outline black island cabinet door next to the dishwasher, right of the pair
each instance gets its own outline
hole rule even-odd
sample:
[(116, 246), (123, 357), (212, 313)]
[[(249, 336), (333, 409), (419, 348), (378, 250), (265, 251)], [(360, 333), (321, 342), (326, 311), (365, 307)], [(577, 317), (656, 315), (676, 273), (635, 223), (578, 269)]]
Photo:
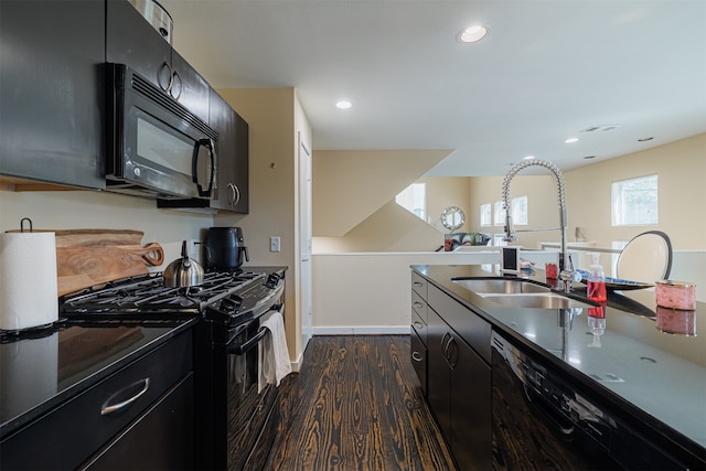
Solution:
[(462, 470), (492, 467), (491, 368), (453, 334), (451, 373), (451, 451)]

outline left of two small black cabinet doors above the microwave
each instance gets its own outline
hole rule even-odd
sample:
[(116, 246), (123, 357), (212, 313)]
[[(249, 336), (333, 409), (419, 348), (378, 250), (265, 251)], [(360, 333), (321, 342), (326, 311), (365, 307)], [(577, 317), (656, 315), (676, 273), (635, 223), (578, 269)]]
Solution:
[(165, 90), (171, 81), (171, 45), (127, 0), (107, 0), (106, 13), (106, 61), (129, 65)]

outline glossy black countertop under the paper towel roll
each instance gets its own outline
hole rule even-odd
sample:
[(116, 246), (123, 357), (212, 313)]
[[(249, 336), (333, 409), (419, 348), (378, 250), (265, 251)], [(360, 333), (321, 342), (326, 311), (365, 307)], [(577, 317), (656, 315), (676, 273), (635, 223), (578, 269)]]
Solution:
[(0, 340), (0, 439), (191, 329), (194, 319), (126, 323), (61, 322)]

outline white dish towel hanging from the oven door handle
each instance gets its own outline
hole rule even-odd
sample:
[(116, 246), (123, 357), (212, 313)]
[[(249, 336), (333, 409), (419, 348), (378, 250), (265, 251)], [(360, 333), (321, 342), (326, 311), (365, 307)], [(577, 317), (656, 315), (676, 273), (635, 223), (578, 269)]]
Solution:
[(270, 333), (269, 335), (265, 335), (258, 346), (260, 365), (257, 379), (258, 393), (263, 390), (267, 384), (279, 386), (282, 378), (291, 373), (282, 313), (279, 311), (274, 312), (260, 324), (260, 328), (268, 329)]

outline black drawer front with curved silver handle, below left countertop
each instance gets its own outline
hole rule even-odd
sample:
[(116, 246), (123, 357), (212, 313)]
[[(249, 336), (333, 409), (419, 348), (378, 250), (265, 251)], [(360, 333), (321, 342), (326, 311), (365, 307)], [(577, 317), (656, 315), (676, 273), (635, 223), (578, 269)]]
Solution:
[[(188, 331), (8, 438), (2, 442), (0, 468), (77, 468), (191, 368)], [(105, 411), (106, 406), (133, 398), (122, 408)]]

